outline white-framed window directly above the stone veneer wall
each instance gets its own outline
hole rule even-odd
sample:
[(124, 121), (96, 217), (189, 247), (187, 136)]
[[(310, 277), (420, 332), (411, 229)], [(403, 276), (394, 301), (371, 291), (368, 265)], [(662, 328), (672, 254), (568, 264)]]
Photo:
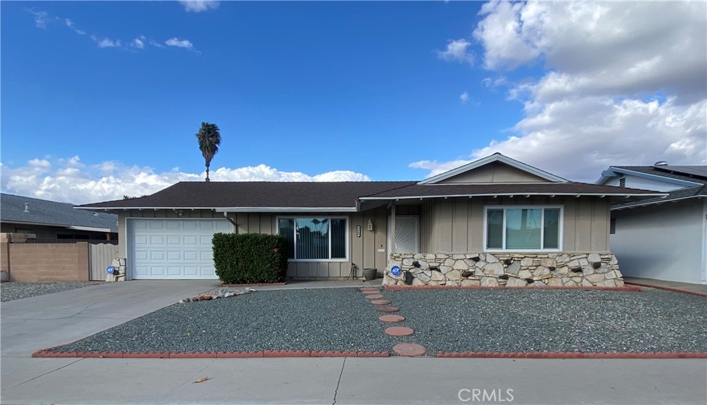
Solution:
[(562, 206), (484, 207), (487, 251), (562, 250)]

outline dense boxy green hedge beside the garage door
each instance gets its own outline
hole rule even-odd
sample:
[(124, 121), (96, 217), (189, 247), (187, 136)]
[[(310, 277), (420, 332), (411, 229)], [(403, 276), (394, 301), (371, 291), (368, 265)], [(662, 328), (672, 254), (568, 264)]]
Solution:
[(214, 266), (225, 284), (279, 283), (287, 273), (287, 240), (262, 233), (216, 233)]

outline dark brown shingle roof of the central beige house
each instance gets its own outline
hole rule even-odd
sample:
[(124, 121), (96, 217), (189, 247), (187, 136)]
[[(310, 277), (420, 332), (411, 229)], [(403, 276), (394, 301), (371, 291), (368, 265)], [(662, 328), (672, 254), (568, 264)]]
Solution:
[(80, 206), (87, 209), (122, 208), (346, 208), (359, 199), (396, 199), (414, 196), (470, 196), (493, 194), (661, 194), (625, 187), (578, 182), (524, 184), (416, 184), (416, 182), (179, 182), (137, 199)]

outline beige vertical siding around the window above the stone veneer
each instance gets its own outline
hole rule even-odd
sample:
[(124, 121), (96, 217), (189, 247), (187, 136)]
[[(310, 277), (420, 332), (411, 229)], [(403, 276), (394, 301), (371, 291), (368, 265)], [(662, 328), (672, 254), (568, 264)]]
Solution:
[(426, 201), (421, 213), (421, 250), (484, 251), (484, 206), (563, 206), (563, 252), (609, 252), (609, 203), (592, 196), (509, 196)]

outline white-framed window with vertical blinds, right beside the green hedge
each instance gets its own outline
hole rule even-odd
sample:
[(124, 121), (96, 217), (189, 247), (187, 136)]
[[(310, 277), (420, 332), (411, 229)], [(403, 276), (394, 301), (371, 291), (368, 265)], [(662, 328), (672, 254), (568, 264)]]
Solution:
[(291, 262), (349, 260), (349, 220), (345, 216), (280, 216), (277, 233), (287, 238)]

